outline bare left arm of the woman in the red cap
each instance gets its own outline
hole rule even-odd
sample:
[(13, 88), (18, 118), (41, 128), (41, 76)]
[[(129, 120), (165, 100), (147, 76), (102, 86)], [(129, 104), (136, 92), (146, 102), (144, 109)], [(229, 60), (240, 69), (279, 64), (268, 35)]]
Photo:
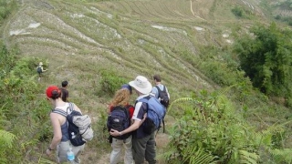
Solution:
[[(62, 131), (61, 131), (61, 124), (58, 120), (56, 113), (50, 114), (51, 123), (54, 128), (54, 137), (51, 141), (51, 144), (48, 146), (49, 149), (57, 149), (57, 144), (61, 141), (62, 138)], [(50, 153), (47, 153), (49, 155)]]

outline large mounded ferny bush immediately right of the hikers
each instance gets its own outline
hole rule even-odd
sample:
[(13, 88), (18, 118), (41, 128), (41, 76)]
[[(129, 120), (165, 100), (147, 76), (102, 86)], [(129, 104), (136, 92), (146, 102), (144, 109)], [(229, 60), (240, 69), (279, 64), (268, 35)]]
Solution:
[[(185, 103), (188, 102), (188, 103)], [(248, 163), (259, 160), (255, 129), (235, 117), (233, 104), (222, 93), (183, 97), (172, 102), (183, 117), (171, 130), (165, 158), (170, 163)]]

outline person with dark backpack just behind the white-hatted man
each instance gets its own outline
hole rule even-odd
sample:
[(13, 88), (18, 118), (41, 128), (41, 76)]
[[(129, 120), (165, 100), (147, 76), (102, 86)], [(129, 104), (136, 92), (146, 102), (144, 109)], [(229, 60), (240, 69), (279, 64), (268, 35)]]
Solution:
[(161, 101), (165, 108), (168, 108), (171, 97), (167, 87), (162, 85), (162, 77), (159, 75), (154, 75), (153, 80), (155, 86), (152, 88), (151, 93)]

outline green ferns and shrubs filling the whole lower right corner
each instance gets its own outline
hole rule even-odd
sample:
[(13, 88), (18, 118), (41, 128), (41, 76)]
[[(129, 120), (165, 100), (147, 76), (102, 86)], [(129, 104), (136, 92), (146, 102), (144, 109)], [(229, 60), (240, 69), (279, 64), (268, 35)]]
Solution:
[[(285, 125), (291, 121), (256, 129), (224, 96), (228, 89), (214, 93), (202, 91), (199, 95), (172, 102), (169, 112), (182, 118), (177, 119), (172, 128), (169, 149), (164, 152), (168, 163), (291, 162), (286, 158), (286, 153), (291, 151), (283, 149), (282, 145), (287, 133)], [(176, 108), (182, 112), (177, 113)], [(264, 154), (277, 157), (266, 159)]]

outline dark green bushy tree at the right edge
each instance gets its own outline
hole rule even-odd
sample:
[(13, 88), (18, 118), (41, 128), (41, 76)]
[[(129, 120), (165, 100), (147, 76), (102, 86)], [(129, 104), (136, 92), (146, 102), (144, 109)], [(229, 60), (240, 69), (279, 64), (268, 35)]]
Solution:
[(292, 75), (292, 33), (273, 23), (268, 27), (254, 26), (253, 35), (239, 38), (235, 53), (240, 66), (254, 87), (267, 95), (290, 96)]

